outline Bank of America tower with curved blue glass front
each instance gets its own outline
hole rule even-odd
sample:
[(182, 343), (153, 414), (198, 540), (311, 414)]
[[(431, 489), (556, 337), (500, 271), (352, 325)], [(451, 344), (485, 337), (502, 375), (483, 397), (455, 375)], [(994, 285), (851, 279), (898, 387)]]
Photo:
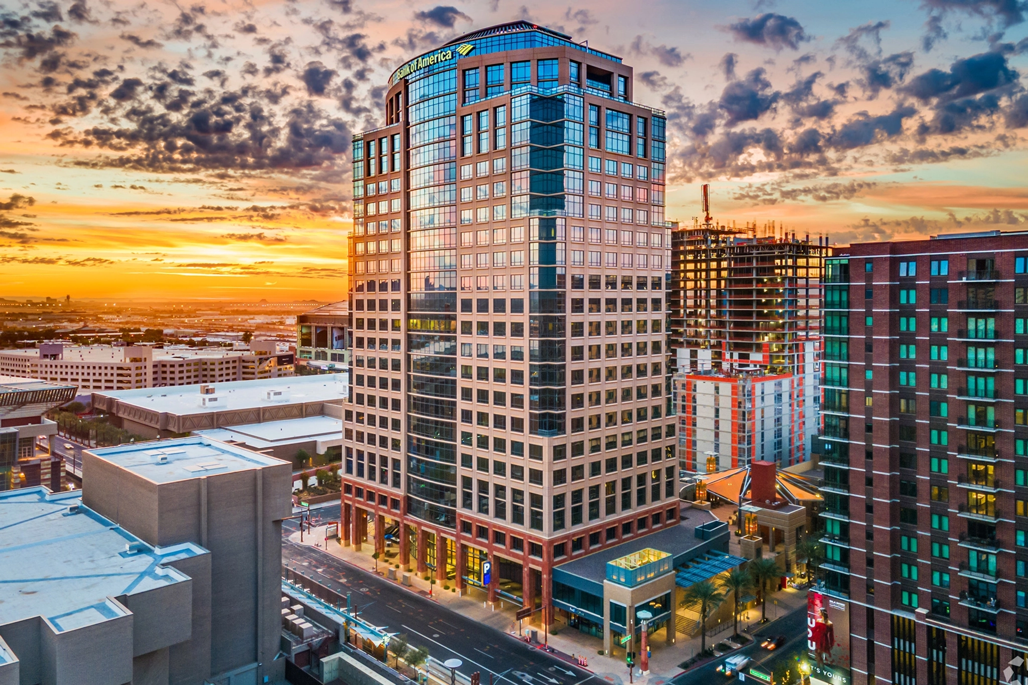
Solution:
[(344, 539), (370, 515), (376, 549), (458, 586), (490, 562), (547, 618), (555, 560), (677, 520), (666, 119), (633, 85), (515, 22), (404, 64), (354, 141)]

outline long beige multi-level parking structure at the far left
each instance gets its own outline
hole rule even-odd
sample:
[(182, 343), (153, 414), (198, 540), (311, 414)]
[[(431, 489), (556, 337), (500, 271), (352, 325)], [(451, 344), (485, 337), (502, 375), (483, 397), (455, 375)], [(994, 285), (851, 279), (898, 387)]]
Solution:
[(293, 353), (264, 340), (252, 341), (244, 349), (49, 342), (0, 351), (0, 374), (73, 383), (80, 394), (88, 394), (292, 376)]

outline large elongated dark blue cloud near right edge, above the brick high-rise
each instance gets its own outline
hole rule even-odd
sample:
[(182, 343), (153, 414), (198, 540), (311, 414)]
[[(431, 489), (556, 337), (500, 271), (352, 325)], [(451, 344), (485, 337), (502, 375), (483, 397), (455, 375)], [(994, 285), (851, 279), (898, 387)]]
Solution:
[(941, 103), (969, 98), (1017, 83), (1020, 74), (1012, 69), (1006, 55), (999, 52), (982, 52), (957, 60), (948, 72), (929, 69), (911, 79), (904, 92), (921, 102), (938, 100)]

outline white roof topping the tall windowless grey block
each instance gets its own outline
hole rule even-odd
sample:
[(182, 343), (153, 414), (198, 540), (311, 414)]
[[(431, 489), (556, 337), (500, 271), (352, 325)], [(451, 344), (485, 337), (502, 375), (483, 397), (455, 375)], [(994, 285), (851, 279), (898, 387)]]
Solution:
[(89, 453), (153, 483), (188, 481), (286, 463), (198, 435), (119, 445)]

